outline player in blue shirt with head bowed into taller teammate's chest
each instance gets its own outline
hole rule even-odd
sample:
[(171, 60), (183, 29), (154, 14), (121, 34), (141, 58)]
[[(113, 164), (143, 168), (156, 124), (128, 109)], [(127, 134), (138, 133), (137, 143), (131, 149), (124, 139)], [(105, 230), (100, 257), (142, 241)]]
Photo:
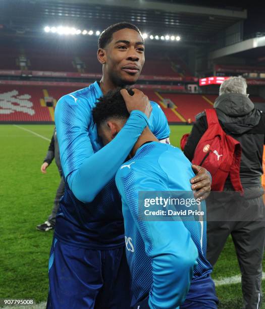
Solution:
[[(123, 99), (130, 94), (126, 89), (121, 91), (123, 96), (117, 89), (99, 98), (92, 110), (103, 144), (118, 137), (130, 116)], [(215, 285), (210, 278), (212, 268), (205, 258), (206, 221), (195, 221), (193, 216), (186, 221), (141, 217), (140, 194), (145, 191), (193, 196), (191, 163), (180, 149), (160, 143), (148, 127), (132, 147), (129, 158), (116, 174), (116, 185), (122, 197), (132, 307), (217, 308)], [(204, 201), (199, 200), (199, 205), (205, 209)]]

